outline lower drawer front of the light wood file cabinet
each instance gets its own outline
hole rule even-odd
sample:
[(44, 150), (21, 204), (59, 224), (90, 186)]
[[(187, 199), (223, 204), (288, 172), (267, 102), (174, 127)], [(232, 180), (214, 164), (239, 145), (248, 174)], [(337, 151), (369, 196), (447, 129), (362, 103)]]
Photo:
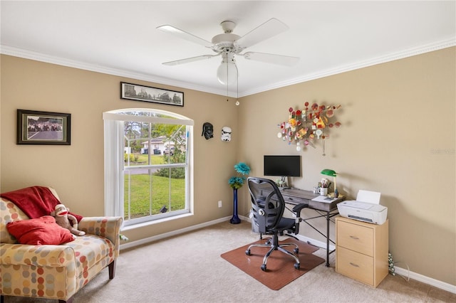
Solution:
[(340, 246), (336, 248), (336, 255), (336, 272), (373, 285), (373, 257)]

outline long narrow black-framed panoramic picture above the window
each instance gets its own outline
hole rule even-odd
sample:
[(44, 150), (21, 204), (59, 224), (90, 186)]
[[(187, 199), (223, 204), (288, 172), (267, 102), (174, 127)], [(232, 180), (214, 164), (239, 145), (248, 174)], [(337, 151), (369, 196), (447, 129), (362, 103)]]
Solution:
[(120, 83), (120, 98), (144, 102), (162, 103), (166, 105), (184, 106), (184, 93), (162, 88)]

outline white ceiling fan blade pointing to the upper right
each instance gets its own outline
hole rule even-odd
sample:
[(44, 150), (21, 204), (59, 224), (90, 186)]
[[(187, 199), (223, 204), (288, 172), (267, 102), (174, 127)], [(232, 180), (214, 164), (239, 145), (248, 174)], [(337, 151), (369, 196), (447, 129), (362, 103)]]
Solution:
[(249, 33), (246, 33), (234, 43), (243, 49), (248, 48), (249, 46), (253, 46), (254, 44), (276, 36), (277, 34), (286, 31), (288, 28), (289, 27), (282, 21), (271, 18), (257, 28), (254, 28), (252, 31), (249, 31)]

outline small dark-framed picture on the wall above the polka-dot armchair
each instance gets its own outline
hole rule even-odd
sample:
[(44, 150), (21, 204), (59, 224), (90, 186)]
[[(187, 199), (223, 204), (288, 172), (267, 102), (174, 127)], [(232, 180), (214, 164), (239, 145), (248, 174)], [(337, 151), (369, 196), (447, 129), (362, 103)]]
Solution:
[(70, 145), (71, 114), (17, 110), (16, 144)]

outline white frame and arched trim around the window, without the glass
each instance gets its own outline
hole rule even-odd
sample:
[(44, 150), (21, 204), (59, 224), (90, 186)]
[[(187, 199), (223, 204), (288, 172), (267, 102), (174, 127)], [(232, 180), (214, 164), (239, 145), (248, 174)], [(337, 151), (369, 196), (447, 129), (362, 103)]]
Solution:
[[(127, 115), (125, 112), (150, 112), (173, 118)], [(138, 225), (156, 222), (160, 218), (179, 218), (193, 213), (193, 125), (194, 122), (188, 117), (150, 108), (126, 108), (103, 112), (104, 122), (104, 145), (105, 145), (105, 216), (120, 216), (124, 214), (124, 122), (145, 122), (155, 124), (179, 124), (187, 126), (187, 175), (185, 176), (185, 211), (177, 211), (172, 215), (145, 216), (141, 220), (130, 220), (124, 225)]]

